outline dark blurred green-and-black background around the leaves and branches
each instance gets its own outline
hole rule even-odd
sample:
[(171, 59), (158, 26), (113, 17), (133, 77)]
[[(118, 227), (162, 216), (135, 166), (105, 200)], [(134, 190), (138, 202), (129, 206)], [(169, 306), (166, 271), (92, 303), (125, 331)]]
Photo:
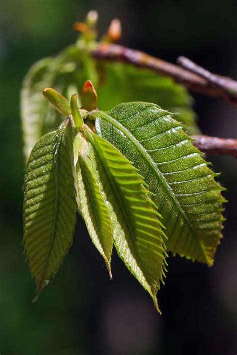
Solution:
[[(32, 304), (22, 238), (19, 91), (29, 66), (73, 43), (90, 9), (99, 30), (121, 19), (120, 43), (169, 61), (185, 55), (237, 79), (236, 0), (0, 0), (0, 355), (235, 355), (237, 160), (208, 156), (227, 187), (224, 238), (208, 268), (168, 258), (162, 316), (113, 253), (113, 280), (78, 218), (73, 246)], [(118, 88), (119, 89), (119, 88)], [(194, 95), (202, 131), (237, 136), (237, 109)]]

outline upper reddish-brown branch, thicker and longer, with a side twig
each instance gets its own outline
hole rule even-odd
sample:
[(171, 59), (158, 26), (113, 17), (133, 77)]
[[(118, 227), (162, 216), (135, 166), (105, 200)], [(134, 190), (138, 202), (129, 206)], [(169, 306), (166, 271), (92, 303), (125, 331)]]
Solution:
[[(222, 97), (231, 104), (237, 105), (237, 82), (219, 75), (209, 73), (207, 70), (196, 66), (188, 59), (179, 57), (178, 65), (171, 64), (144, 52), (123, 47), (118, 44), (99, 43), (91, 50), (91, 54), (97, 59), (127, 62), (142, 68), (154, 70), (160, 74), (169, 76), (174, 81), (183, 84), (190, 90), (202, 94)], [(192, 63), (192, 65), (190, 65)], [(198, 68), (198, 70), (197, 70)]]

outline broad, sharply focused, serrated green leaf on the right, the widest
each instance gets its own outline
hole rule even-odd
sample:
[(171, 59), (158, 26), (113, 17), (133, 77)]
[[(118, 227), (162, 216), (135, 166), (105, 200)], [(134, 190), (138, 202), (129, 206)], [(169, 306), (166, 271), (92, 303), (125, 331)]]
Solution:
[(95, 131), (139, 170), (163, 217), (173, 254), (212, 265), (221, 237), (223, 190), (179, 122), (144, 102), (93, 111)]

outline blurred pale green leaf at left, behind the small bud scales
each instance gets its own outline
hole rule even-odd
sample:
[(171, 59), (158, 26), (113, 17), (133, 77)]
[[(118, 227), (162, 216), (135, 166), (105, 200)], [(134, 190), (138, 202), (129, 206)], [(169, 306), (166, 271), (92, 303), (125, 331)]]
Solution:
[[(76, 45), (70, 45), (57, 56), (43, 58), (30, 67), (20, 94), (26, 162), (36, 141), (43, 134), (55, 130), (62, 121), (59, 112), (43, 97), (43, 89), (54, 87), (69, 99), (72, 93), (80, 90), (87, 79), (95, 84), (97, 82), (95, 60)], [(72, 86), (76, 90), (70, 90)]]

